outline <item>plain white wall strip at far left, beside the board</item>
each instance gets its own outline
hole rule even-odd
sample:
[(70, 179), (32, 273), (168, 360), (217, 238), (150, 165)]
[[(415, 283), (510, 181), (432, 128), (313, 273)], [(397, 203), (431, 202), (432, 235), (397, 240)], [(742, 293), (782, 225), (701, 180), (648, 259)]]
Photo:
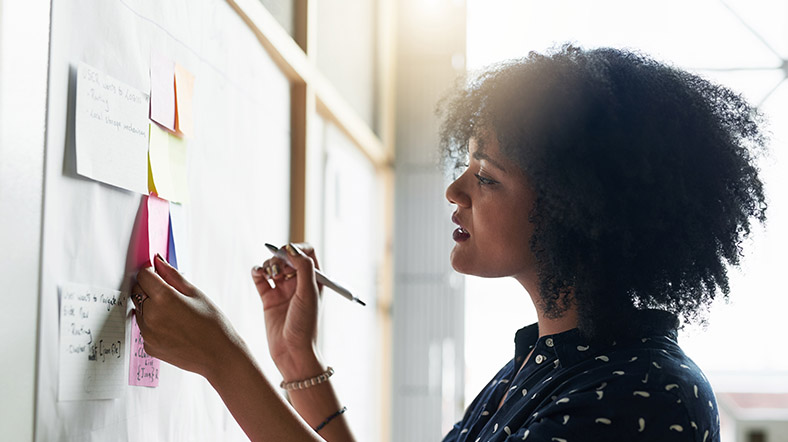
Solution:
[(0, 428), (33, 438), (49, 1), (0, 0)]

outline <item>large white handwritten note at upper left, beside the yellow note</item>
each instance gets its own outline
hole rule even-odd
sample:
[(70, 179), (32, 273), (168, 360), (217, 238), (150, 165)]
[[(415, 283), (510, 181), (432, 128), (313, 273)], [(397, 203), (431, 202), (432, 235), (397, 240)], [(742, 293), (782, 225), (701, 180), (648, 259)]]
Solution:
[(77, 68), (77, 173), (148, 193), (148, 95), (80, 63)]

